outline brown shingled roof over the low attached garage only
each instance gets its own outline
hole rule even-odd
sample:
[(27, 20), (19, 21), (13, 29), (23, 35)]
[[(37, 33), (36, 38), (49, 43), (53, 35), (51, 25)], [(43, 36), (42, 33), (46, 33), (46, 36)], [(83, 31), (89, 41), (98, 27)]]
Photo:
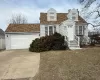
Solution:
[(9, 24), (5, 32), (37, 32), (40, 24)]

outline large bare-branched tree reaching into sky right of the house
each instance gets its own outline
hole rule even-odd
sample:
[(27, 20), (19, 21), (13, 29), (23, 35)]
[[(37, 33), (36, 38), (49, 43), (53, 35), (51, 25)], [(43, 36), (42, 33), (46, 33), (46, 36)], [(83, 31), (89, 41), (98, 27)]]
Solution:
[[(81, 15), (93, 27), (100, 26), (100, 2), (99, 0), (78, 0), (82, 5)], [(91, 21), (89, 21), (91, 20)]]

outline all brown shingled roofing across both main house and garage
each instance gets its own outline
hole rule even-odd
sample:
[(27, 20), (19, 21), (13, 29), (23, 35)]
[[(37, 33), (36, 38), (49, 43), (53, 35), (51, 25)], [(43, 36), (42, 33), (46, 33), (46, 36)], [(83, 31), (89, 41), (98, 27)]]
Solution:
[[(40, 24), (60, 24), (67, 20), (68, 13), (57, 13), (57, 21), (47, 21), (47, 13), (40, 13)], [(77, 23), (87, 23), (81, 16), (78, 16)], [(5, 32), (37, 32), (40, 31), (40, 24), (9, 24)]]

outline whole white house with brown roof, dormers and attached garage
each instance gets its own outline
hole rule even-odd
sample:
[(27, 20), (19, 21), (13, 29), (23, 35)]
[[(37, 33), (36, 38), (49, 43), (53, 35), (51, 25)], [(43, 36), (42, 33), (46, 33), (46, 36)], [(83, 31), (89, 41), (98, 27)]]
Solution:
[(38, 24), (10, 24), (6, 29), (6, 49), (29, 48), (32, 40), (55, 32), (65, 37), (70, 49), (80, 49), (80, 41), (88, 43), (88, 24), (79, 16), (78, 9), (58, 13), (51, 8), (40, 13)]

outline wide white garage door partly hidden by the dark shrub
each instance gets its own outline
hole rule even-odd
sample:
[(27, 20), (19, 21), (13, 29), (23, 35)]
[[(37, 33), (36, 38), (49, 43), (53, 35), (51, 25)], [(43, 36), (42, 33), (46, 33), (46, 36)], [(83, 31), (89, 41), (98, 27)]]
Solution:
[(11, 35), (11, 49), (27, 49), (32, 40), (39, 37), (39, 34), (32, 35)]

